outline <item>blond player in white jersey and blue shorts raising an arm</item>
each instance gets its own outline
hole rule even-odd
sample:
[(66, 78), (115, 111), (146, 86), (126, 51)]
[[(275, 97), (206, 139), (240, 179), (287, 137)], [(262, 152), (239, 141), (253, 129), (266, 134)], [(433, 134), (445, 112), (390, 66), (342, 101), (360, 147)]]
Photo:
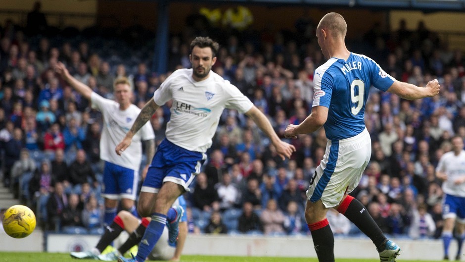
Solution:
[[(116, 216), (118, 201), (123, 210), (138, 216), (134, 202), (139, 183), (139, 166), (142, 159), (142, 144), (145, 143), (145, 155), (151, 159), (155, 154), (155, 137), (153, 128), (145, 124), (134, 135), (133, 144), (128, 147), (123, 157), (113, 150), (118, 142), (126, 136), (133, 125), (140, 108), (131, 103), (133, 90), (127, 78), (118, 78), (114, 83), (115, 101), (101, 97), (89, 86), (79, 82), (70, 75), (65, 65), (58, 62), (56, 71), (83, 97), (90, 100), (92, 107), (103, 115), (103, 128), (100, 138), (100, 159), (105, 161), (103, 170), (103, 193), (105, 198), (104, 222), (109, 225)], [(144, 172), (148, 164), (144, 168)]]

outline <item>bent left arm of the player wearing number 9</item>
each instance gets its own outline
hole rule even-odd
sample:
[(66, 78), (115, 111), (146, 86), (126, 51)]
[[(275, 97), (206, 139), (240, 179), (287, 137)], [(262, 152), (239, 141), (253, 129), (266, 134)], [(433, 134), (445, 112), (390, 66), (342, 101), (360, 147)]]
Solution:
[(328, 118), (328, 108), (326, 106), (315, 106), (305, 120), (299, 125), (288, 125), (284, 130), (284, 137), (297, 138), (298, 134), (310, 134), (322, 127)]

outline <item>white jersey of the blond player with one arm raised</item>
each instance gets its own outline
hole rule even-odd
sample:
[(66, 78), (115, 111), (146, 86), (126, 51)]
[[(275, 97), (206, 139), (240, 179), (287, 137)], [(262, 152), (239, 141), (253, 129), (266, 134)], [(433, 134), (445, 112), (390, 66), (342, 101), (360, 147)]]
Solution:
[(142, 159), (142, 140), (154, 139), (155, 134), (150, 122), (145, 123), (134, 135), (131, 145), (121, 156), (116, 155), (115, 148), (131, 129), (139, 115), (140, 108), (130, 105), (122, 111), (119, 104), (99, 96), (93, 92), (91, 95), (92, 107), (101, 111), (103, 115), (103, 128), (100, 136), (100, 159), (126, 168), (139, 171)]

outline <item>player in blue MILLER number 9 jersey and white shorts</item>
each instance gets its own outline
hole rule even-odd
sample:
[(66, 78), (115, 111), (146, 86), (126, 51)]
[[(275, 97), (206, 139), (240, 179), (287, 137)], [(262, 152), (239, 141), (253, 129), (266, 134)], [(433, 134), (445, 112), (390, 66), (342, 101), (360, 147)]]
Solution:
[(324, 126), (326, 153), (310, 180), (305, 218), (320, 262), (334, 261), (334, 236), (326, 212), (334, 208), (370, 237), (382, 262), (396, 261), (400, 247), (388, 240), (365, 207), (347, 195), (360, 182), (372, 154), (364, 113), (370, 87), (407, 100), (439, 93), (437, 80), (425, 88), (395, 80), (365, 55), (347, 50), (347, 23), (338, 13), (328, 13), (317, 27), (318, 44), (328, 59), (314, 75), (311, 114), (299, 125), (287, 126), (286, 138), (312, 133)]

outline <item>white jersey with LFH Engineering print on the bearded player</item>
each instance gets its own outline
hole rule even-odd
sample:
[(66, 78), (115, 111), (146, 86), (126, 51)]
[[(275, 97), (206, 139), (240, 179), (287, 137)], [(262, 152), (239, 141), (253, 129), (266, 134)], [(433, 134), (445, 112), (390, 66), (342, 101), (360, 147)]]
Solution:
[(224, 108), (245, 113), (253, 104), (229, 81), (213, 71), (203, 81), (192, 78), (192, 69), (173, 72), (157, 89), (153, 100), (164, 105), (170, 99), (171, 119), (166, 138), (173, 144), (195, 152), (205, 152)]

